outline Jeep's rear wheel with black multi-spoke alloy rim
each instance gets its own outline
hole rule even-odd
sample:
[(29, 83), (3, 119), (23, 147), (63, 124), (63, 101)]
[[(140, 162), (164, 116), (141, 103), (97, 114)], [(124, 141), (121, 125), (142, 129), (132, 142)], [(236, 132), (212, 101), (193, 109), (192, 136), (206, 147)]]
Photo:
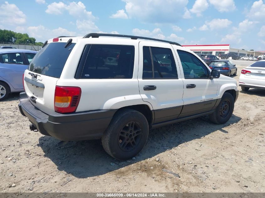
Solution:
[(146, 144), (149, 125), (146, 117), (133, 109), (117, 111), (102, 136), (104, 150), (117, 160), (131, 159)]

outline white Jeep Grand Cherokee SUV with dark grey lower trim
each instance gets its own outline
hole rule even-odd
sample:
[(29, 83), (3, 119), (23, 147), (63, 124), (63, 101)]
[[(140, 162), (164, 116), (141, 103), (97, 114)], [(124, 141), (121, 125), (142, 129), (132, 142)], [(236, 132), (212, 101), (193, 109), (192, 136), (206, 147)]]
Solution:
[(19, 110), (31, 130), (102, 139), (119, 160), (142, 150), (149, 129), (204, 115), (224, 124), (238, 97), (236, 80), (180, 44), (128, 35), (50, 39), (23, 78)]

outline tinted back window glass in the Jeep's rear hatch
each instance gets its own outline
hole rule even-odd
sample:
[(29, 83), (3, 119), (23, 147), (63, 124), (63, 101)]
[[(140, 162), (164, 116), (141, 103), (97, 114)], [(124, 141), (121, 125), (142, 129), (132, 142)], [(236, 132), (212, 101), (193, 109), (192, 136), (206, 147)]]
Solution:
[(60, 78), (66, 60), (75, 43), (65, 48), (66, 43), (48, 43), (34, 56), (29, 71), (55, 78)]

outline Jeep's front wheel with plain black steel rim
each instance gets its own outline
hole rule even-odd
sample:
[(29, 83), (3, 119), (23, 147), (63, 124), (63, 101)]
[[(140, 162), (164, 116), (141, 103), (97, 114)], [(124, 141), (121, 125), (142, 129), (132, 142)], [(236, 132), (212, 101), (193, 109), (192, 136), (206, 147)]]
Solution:
[(215, 112), (209, 115), (209, 119), (215, 124), (225, 124), (232, 116), (235, 100), (230, 93), (224, 93)]

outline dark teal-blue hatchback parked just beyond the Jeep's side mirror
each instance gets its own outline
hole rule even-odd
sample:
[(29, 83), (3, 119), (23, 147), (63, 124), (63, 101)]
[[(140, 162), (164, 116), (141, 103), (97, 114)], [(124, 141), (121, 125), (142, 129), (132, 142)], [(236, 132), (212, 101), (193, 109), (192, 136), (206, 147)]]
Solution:
[(220, 74), (231, 76), (236, 75), (237, 68), (235, 64), (232, 64), (229, 60), (214, 60), (209, 64), (210, 69), (220, 71)]

